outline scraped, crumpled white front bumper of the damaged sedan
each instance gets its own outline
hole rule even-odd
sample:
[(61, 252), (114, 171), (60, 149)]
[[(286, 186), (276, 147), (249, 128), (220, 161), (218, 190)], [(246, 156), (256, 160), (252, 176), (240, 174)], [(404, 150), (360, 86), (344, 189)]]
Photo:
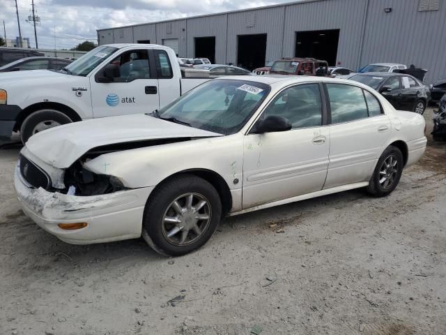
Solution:
[[(15, 170), (15, 191), (26, 216), (40, 228), (70, 244), (93, 244), (141, 236), (144, 207), (153, 187), (118, 191), (88, 197), (32, 188)], [(63, 230), (58, 223), (88, 225)]]

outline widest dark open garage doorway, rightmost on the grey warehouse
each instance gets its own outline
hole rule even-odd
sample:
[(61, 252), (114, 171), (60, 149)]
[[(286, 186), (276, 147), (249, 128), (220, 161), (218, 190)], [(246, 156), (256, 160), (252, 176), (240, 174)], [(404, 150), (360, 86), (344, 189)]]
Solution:
[(295, 57), (313, 57), (336, 66), (339, 29), (297, 31), (295, 33)]

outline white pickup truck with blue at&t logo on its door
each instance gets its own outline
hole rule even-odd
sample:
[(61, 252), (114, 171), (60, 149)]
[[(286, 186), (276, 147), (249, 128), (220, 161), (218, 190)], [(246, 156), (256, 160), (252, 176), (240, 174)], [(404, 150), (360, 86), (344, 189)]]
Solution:
[(162, 45), (101, 45), (60, 72), (0, 74), (0, 139), (22, 142), (47, 128), (98, 117), (152, 112), (209, 78), (183, 78)]

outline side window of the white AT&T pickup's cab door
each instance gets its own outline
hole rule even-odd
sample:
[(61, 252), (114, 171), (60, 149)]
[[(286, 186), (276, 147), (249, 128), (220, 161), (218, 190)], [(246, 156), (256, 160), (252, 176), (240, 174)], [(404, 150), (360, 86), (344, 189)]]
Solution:
[(109, 64), (119, 67), (119, 77), (114, 78), (115, 82), (132, 82), (150, 77), (147, 50), (123, 52)]

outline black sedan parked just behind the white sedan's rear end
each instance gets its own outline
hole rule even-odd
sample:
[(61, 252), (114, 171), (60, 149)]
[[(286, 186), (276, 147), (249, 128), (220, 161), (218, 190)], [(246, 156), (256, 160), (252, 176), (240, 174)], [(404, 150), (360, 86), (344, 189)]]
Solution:
[(411, 75), (401, 73), (357, 73), (349, 78), (376, 89), (397, 110), (423, 114), (431, 99), (429, 88)]

